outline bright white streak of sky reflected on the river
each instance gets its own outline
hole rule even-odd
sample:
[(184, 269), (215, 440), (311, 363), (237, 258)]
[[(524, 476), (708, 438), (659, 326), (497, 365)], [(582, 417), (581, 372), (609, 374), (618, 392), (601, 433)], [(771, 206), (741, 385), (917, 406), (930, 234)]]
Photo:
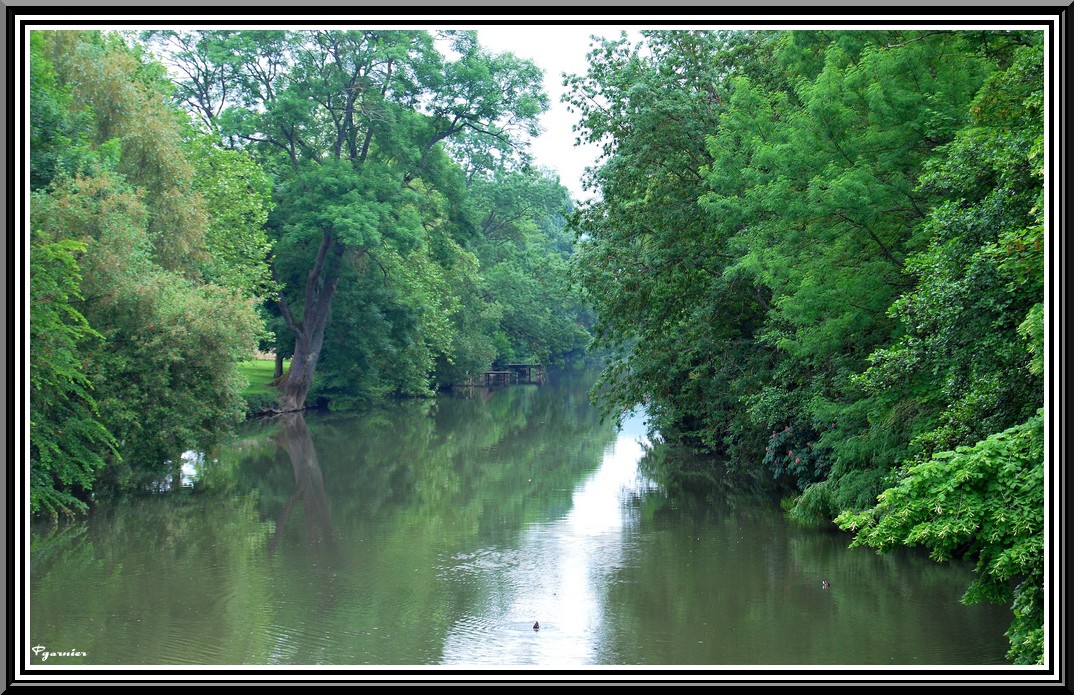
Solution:
[(606, 589), (633, 542), (637, 512), (627, 502), (655, 489), (638, 469), (647, 444), (641, 416), (626, 419), (600, 466), (575, 489), (564, 518), (526, 529), (514, 549), (476, 553), (480, 568), (470, 569), (482, 575), (490, 594), (484, 614), (458, 623), (446, 639), (442, 663), (596, 663), (606, 619), (614, 611), (604, 599)]

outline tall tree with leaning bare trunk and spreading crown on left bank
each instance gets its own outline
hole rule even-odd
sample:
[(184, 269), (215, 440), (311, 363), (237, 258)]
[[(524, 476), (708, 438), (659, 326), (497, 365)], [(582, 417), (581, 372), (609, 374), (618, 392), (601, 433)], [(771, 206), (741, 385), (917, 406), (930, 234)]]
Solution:
[(346, 269), (420, 240), (416, 199), (441, 143), (514, 150), (546, 107), (535, 66), (489, 55), (473, 33), (446, 39), (453, 60), (422, 31), (204, 32), (172, 56), (184, 98), (278, 182), (274, 273), (294, 335), (282, 410), (305, 406)]

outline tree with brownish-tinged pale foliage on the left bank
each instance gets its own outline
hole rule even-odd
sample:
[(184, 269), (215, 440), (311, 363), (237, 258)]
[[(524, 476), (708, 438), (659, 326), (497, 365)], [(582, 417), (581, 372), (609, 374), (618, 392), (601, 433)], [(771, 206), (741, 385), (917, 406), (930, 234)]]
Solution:
[[(92, 385), (96, 415), (115, 444), (99, 446), (97, 458), (81, 461), (64, 445), (68, 461), (55, 461), (53, 469), (82, 467), (86, 475), (76, 481), (82, 489), (100, 483), (93, 479), (100, 476), (126, 484), (242, 418), (237, 363), (252, 352), (260, 321), (249, 288), (207, 280), (242, 285), (240, 269), (256, 277), (262, 260), (228, 256), (223, 244), (209, 243), (209, 221), (220, 221), (226, 197), (211, 198), (217, 207), (206, 207), (193, 188), (185, 116), (160, 91), (166, 89), (163, 70), (113, 34), (39, 35), (31, 41), (32, 58), (47, 79), (31, 91), (31, 116), (35, 108), (52, 114), (38, 130), (42, 151), (70, 141), (85, 156), (31, 161), (31, 166), (71, 162), (45, 169), (43, 186), (31, 198), (30, 221), (33, 247), (68, 249), (76, 265), (62, 267), (69, 279), (78, 278), (77, 292), (49, 294), (66, 296), (70, 307), (34, 303), (31, 323), (47, 323), (50, 312), (72, 328), (81, 325), (78, 315), (88, 323), (68, 332), (85, 378), (76, 383), (87, 387), (85, 393)], [(82, 250), (75, 254), (76, 248)], [(214, 251), (220, 256), (216, 266), (209, 262)], [(60, 258), (31, 254), (31, 273), (44, 281), (50, 271), (39, 259), (61, 267)], [(231, 272), (222, 272), (224, 262)], [(68, 287), (55, 277), (58, 287)], [(62, 351), (54, 357), (46, 349), (50, 339), (39, 334), (31, 346), (32, 378), (40, 372), (47, 381), (49, 370), (69, 368)], [(54, 391), (63, 386), (53, 381)], [(54, 395), (33, 394), (39, 404), (31, 407), (40, 417), (31, 429), (39, 439), (60, 426), (61, 410), (48, 409)], [(91, 401), (83, 402), (92, 411)], [(64, 432), (75, 436), (73, 428)]]

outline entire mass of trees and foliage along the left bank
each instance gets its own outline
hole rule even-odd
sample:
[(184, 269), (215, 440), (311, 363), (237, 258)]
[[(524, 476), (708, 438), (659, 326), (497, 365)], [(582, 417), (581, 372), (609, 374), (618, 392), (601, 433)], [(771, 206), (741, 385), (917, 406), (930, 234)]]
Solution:
[(68, 391), (102, 428), (71, 441), (115, 437), (77, 476), (34, 449), (56, 483), (35, 490), (137, 484), (205, 446), (263, 405), (238, 364), (268, 335), (295, 341), (300, 407), (322, 345), (313, 394), (337, 408), (580, 351), (566, 192), (521, 147), (540, 72), (452, 35), (449, 59), (423, 31), (144, 34), (172, 84), (129, 34), (33, 34), (38, 258), (77, 285), (35, 320), (69, 325), (84, 375), (40, 353), (34, 441)]

